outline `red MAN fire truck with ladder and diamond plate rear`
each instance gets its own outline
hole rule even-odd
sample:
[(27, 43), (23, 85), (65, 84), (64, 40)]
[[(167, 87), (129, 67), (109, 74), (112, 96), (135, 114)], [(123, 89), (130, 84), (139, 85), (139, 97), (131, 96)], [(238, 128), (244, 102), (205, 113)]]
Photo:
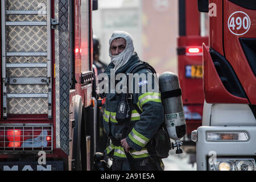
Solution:
[(0, 170), (92, 166), (94, 5), (97, 1), (1, 1)]

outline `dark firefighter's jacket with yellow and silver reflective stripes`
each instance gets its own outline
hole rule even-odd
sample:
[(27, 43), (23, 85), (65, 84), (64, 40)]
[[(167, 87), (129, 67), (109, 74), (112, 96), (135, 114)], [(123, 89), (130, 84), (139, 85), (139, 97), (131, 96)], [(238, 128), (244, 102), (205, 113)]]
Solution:
[[(139, 58), (135, 53), (129, 61), (119, 68), (114, 75), (118, 73), (129, 73), (129, 69), (134, 65), (139, 63)], [(108, 68), (106, 68), (105, 73), (110, 78), (110, 69), (114, 68), (114, 64), (110, 63)], [(112, 70), (113, 71), (113, 70)], [(148, 69), (141, 69), (138, 74), (141, 73), (151, 73)], [(152, 74), (151, 74), (151, 77)], [(146, 79), (146, 80), (144, 80)], [(117, 80), (117, 79), (115, 79)], [(135, 79), (134, 79), (135, 80)], [(154, 84), (154, 77), (151, 78), (152, 84)], [(134, 81), (134, 84), (139, 85), (139, 93), (133, 93), (133, 106), (129, 129), (129, 135), (126, 137), (126, 142), (131, 147), (130, 153), (135, 159), (148, 158), (148, 152), (146, 144), (149, 140), (154, 137), (155, 133), (158, 131), (160, 125), (164, 121), (163, 115), (163, 105), (161, 103), (160, 92), (148, 92), (150, 89), (142, 89), (143, 85), (150, 84), (150, 79), (139, 78), (139, 81)], [(157, 85), (158, 86), (158, 85)], [(134, 85), (135, 88), (135, 85)], [(153, 87), (154, 88), (154, 87)], [(115, 119), (117, 113), (117, 105), (121, 99), (121, 94), (118, 93), (107, 93), (106, 102), (104, 109), (104, 129), (108, 137), (114, 137), (115, 139), (121, 139), (122, 131), (125, 127), (125, 123), (118, 123)], [(141, 114), (136, 110), (135, 105), (141, 109)], [(114, 158), (126, 158), (124, 148), (121, 146), (114, 146), (110, 142), (109, 146), (106, 148), (105, 152), (109, 154), (114, 150)]]

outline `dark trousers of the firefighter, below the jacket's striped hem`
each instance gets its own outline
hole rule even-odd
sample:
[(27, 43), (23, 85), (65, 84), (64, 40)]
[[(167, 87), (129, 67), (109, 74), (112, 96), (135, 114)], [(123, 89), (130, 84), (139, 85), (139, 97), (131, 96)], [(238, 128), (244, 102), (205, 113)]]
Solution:
[[(135, 159), (134, 167), (136, 171), (159, 171), (158, 167), (151, 159)], [(131, 171), (128, 160), (113, 159), (112, 171)]]

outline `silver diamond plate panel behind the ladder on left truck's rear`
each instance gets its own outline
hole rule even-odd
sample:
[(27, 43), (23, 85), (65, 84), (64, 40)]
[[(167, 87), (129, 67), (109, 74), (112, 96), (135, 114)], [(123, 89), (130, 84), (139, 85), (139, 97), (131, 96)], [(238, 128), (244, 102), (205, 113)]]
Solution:
[[(4, 1), (4, 0), (3, 0)], [(6, 14), (7, 22), (47, 22), (49, 0), (5, 0), (6, 10), (38, 14)], [(48, 9), (49, 10), (49, 9)], [(47, 52), (47, 26), (6, 26), (6, 52)], [(47, 63), (47, 56), (7, 56), (6, 63)], [(6, 68), (6, 77), (47, 77), (47, 68)], [(47, 85), (7, 85), (7, 94), (48, 93)], [(7, 98), (7, 114), (48, 114), (48, 98)]]

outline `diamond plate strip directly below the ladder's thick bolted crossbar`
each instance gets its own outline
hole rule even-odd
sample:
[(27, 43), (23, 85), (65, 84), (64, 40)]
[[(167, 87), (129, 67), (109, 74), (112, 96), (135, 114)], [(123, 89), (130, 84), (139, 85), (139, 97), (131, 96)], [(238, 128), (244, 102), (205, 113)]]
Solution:
[(7, 93), (48, 93), (47, 85), (7, 85)]

